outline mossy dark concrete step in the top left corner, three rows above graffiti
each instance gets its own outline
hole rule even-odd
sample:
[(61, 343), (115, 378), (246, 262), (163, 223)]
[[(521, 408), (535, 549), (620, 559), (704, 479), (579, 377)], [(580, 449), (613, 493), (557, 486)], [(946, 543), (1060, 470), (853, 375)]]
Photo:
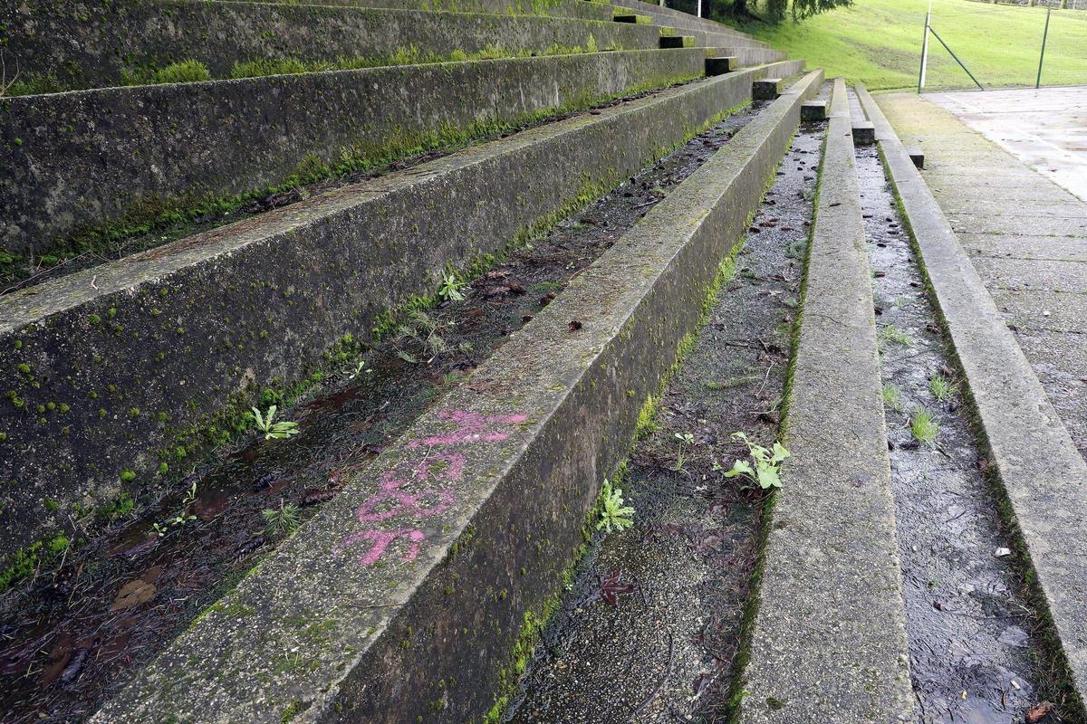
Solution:
[(285, 61), (362, 67), (479, 53), (644, 50), (655, 48), (659, 35), (649, 27), (542, 15), (191, 0), (67, 4), (48, 13), (11, 12), (0, 22), (7, 25), (5, 52), (30, 90), (45, 78), (65, 90), (133, 85), (152, 68), (185, 61), (202, 63), (212, 78), (229, 78), (245, 71), (236, 64), (250, 61), (264, 62), (259, 74), (270, 75)]

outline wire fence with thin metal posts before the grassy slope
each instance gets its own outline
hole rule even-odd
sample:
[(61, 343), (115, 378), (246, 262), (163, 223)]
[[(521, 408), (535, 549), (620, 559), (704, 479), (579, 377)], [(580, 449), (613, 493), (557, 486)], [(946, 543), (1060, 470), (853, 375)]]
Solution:
[(1087, 85), (1087, 0), (940, 3), (917, 31), (922, 90)]

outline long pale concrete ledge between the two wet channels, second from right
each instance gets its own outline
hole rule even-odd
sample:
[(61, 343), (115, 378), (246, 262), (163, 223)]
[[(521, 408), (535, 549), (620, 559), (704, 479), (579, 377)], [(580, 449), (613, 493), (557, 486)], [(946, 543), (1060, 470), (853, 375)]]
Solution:
[(846, 85), (820, 169), (741, 724), (913, 721), (864, 223)]

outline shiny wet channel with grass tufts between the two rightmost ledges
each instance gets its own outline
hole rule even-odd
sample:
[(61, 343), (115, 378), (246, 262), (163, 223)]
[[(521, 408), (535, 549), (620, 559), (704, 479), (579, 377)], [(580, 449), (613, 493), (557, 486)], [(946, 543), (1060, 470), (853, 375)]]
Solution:
[[(1023, 722), (1052, 696), (1020, 564), (985, 479), (961, 383), (874, 147), (859, 148), (902, 566), (924, 724)], [(933, 379), (950, 390), (934, 392)], [(939, 390), (938, 383), (935, 385)], [(911, 432), (935, 417), (935, 440)], [(1034, 713), (1038, 713), (1035, 709)], [(1028, 720), (1059, 721), (1054, 714)]]

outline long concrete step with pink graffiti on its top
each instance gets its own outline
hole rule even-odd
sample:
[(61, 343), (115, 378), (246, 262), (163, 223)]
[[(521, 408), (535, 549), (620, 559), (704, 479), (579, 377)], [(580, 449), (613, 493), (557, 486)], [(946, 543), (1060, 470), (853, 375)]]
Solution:
[(486, 713), (821, 79), (737, 132), (91, 722)]

